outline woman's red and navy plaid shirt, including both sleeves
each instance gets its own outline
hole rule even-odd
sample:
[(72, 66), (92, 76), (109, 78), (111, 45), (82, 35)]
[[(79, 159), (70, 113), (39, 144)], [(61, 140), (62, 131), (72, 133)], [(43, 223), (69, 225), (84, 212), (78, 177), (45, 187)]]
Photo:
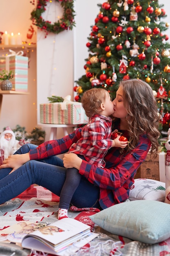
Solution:
[[(118, 127), (114, 128), (118, 129)], [(128, 138), (125, 131), (121, 132)], [(66, 153), (71, 145), (80, 138), (81, 128), (78, 128), (62, 139), (46, 141), (30, 150), (30, 159), (44, 159)], [(141, 163), (146, 159), (150, 145), (150, 140), (144, 134), (140, 137), (136, 148), (125, 155), (119, 153), (119, 148), (110, 148), (104, 157), (106, 162), (104, 168), (82, 160), (79, 173), (95, 186), (99, 186), (99, 203), (103, 209), (124, 202), (128, 198), (130, 187), (134, 183), (134, 176)]]

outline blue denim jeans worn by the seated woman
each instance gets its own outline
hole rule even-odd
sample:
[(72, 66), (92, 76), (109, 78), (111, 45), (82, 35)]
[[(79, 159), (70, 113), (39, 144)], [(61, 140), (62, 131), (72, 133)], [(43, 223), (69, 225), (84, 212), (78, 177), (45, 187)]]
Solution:
[[(15, 154), (28, 153), (37, 146), (23, 145)], [(8, 175), (11, 168), (0, 169), (0, 204), (16, 197), (31, 184), (38, 184), (60, 196), (66, 179), (66, 168), (57, 156), (41, 160), (30, 160)], [(76, 207), (99, 208), (99, 187), (82, 176), (79, 186), (75, 190), (71, 204)]]

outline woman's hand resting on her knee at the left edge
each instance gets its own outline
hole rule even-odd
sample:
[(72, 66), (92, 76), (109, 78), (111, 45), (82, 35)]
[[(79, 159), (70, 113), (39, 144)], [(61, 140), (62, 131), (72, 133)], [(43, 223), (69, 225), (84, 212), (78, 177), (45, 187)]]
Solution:
[(7, 157), (2, 162), (2, 165), (0, 165), (0, 169), (2, 169), (2, 168), (12, 168), (12, 171), (10, 173), (13, 173), (13, 171), (18, 169), (20, 166), (22, 166), (23, 164), (25, 164), (29, 160), (30, 160), (29, 153), (21, 154), (21, 155), (20, 154), (9, 155), (9, 157)]

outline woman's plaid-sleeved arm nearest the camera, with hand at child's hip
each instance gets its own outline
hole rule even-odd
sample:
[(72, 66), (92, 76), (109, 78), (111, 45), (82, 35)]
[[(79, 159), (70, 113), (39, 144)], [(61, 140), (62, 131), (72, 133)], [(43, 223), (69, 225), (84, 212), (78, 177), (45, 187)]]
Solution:
[[(117, 154), (114, 155), (114, 152), (117, 151), (114, 148), (109, 150), (105, 162), (106, 166), (111, 166), (110, 168), (99, 168), (95, 164), (89, 164), (73, 153), (64, 155), (65, 167), (75, 167), (81, 175), (84, 175), (87, 180), (96, 186), (114, 190), (126, 183), (130, 177), (134, 177), (140, 164), (146, 159), (149, 149), (150, 141), (146, 135), (143, 135), (136, 148), (119, 158), (117, 165), (115, 162), (118, 156)], [(72, 166), (69, 166), (69, 164)]]

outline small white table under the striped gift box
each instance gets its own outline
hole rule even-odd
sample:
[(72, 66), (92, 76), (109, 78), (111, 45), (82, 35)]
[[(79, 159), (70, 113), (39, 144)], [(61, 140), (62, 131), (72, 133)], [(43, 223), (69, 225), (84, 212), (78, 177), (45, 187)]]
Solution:
[(38, 124), (41, 127), (47, 127), (50, 129), (49, 140), (57, 139), (57, 128), (63, 128), (64, 136), (68, 135), (68, 127), (76, 127), (76, 124)]

